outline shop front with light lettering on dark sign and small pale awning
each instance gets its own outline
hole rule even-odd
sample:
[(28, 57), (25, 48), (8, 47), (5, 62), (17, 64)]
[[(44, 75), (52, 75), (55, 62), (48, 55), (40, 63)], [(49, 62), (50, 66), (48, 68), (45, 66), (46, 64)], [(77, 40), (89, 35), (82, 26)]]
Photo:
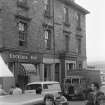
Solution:
[(8, 52), (6, 54), (8, 55), (6, 56), (8, 67), (14, 74), (14, 78), (12, 78), (14, 82), (8, 81), (10, 82), (8, 88), (18, 83), (24, 89), (28, 82), (41, 80), (41, 55), (23, 52)]

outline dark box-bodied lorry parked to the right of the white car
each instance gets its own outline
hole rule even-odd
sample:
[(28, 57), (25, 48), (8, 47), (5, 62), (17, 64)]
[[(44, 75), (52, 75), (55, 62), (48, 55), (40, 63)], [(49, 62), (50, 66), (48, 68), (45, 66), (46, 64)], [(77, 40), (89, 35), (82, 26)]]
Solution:
[(92, 82), (101, 85), (99, 70), (70, 70), (63, 80), (63, 93), (67, 99), (85, 100)]

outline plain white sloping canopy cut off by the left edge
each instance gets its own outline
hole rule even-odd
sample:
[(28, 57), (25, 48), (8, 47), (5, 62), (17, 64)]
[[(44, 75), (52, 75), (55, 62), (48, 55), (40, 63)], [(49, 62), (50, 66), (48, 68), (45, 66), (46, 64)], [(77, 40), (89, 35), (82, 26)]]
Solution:
[(13, 73), (5, 64), (3, 58), (0, 56), (0, 77), (13, 77)]

